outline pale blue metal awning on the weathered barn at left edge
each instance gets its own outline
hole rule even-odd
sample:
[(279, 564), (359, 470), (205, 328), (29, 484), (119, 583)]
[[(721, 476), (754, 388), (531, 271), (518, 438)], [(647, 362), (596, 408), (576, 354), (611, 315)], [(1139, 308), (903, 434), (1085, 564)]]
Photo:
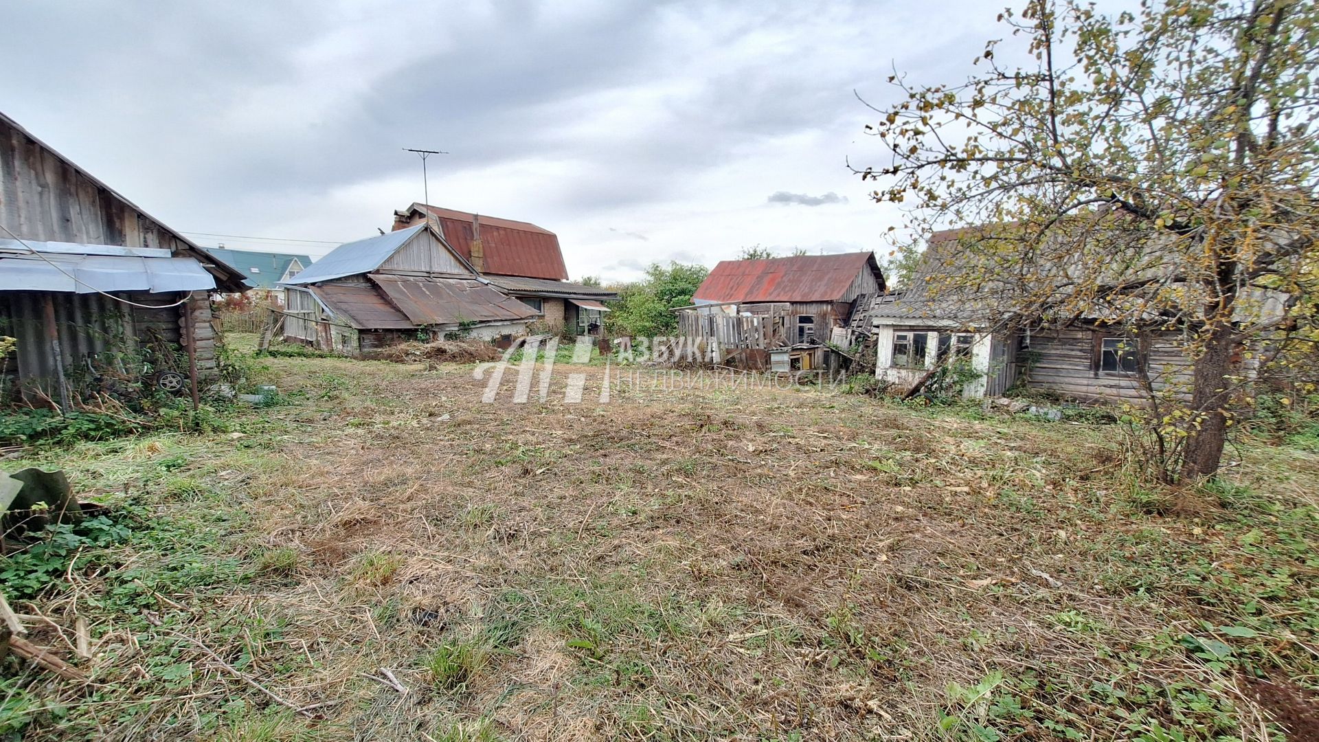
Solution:
[(195, 257), (0, 252), (0, 290), (166, 293), (214, 288), (215, 276)]

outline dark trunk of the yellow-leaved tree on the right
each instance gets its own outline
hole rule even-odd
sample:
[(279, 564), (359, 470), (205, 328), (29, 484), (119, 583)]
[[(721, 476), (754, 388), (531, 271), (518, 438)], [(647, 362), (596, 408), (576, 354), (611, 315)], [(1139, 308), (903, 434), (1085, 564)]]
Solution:
[(1232, 380), (1232, 349), (1236, 333), (1228, 322), (1215, 322), (1204, 330), (1203, 354), (1195, 359), (1195, 374), (1191, 388), (1192, 426), (1186, 442), (1186, 458), (1182, 461), (1182, 481), (1194, 482), (1212, 477), (1219, 470), (1223, 458), (1223, 445), (1228, 433), (1228, 400)]

